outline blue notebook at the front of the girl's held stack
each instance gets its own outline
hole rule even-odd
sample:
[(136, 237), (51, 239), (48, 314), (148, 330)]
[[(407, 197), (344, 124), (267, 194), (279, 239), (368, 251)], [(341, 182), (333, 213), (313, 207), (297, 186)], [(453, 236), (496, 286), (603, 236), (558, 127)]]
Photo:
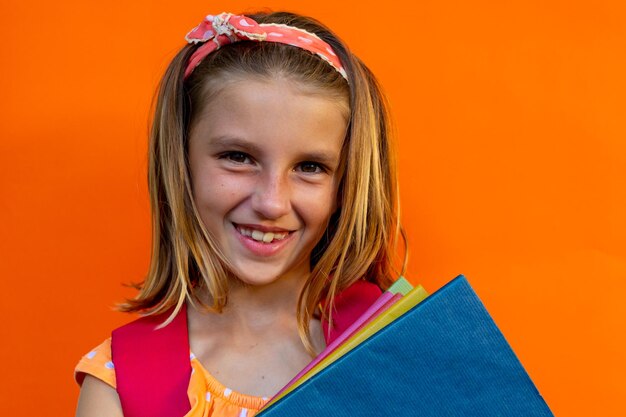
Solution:
[(553, 416), (458, 276), (259, 417)]

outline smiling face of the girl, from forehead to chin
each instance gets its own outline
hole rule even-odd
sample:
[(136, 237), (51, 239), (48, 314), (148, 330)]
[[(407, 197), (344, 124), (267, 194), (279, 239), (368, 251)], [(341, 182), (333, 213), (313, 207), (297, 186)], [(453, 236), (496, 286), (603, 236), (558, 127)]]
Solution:
[(189, 165), (206, 229), (253, 285), (305, 277), (337, 208), (346, 99), (290, 80), (226, 84), (193, 120)]

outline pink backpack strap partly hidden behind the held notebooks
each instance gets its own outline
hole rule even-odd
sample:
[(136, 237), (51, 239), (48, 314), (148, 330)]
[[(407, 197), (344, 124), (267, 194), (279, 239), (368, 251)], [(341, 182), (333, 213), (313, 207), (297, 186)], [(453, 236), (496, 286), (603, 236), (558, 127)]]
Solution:
[[(381, 289), (371, 282), (358, 280), (335, 296), (333, 311), (333, 327), (329, 331), (328, 321), (322, 319), (322, 330), (326, 345), (339, 337), (361, 314), (372, 305), (382, 294)], [(322, 308), (326, 302), (322, 301)]]

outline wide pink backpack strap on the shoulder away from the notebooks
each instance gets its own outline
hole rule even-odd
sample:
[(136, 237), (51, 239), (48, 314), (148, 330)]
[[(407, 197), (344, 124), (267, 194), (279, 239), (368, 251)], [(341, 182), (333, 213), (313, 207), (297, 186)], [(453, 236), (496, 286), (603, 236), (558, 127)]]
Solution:
[(191, 409), (187, 308), (147, 316), (112, 333), (111, 354), (124, 417), (183, 417)]

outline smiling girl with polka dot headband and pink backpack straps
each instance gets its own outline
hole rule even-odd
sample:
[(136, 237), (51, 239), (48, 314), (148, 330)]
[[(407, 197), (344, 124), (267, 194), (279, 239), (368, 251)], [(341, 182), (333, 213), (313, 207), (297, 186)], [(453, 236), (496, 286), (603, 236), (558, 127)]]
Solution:
[(150, 270), (122, 305), (144, 318), (81, 359), (81, 417), (252, 416), (397, 276), (367, 67), (290, 13), (207, 16), (186, 39), (151, 131)]

